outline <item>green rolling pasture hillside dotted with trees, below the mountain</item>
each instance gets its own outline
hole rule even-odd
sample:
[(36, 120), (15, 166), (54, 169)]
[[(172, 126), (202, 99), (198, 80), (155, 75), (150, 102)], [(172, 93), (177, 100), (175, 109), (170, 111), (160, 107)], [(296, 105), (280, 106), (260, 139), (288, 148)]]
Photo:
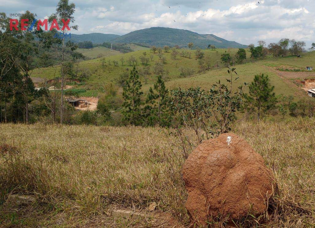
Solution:
[[(230, 49), (231, 55), (234, 55), (238, 49)], [(102, 66), (102, 59), (94, 59), (83, 61), (80, 63), (80, 67), (88, 68), (91, 72), (91, 77), (89, 81), (84, 83), (82, 86), (75, 86), (75, 88), (84, 88), (85, 90), (99, 90), (101, 86), (104, 86), (107, 83), (116, 83), (117, 78), (123, 72), (129, 74), (131, 66), (128, 65), (127, 60), (130, 56), (135, 56), (139, 59), (144, 50), (139, 50), (126, 54), (113, 55), (106, 58), (106, 66)], [(179, 50), (181, 51), (181, 50)], [(166, 86), (172, 88), (174, 86), (181, 87), (190, 87), (190, 86), (201, 86), (203, 88), (210, 88), (210, 86), (217, 82), (218, 80), (225, 81), (228, 77), (226, 73), (227, 68), (222, 68), (223, 64), (221, 63), (221, 54), (226, 51), (226, 49), (217, 49), (217, 50), (204, 50), (206, 55), (209, 55), (211, 58), (211, 65), (213, 65), (212, 70), (205, 72), (198, 72), (198, 60), (195, 58), (195, 50), (188, 50), (192, 52), (191, 59), (185, 57), (178, 57), (176, 60), (171, 59), (170, 52), (163, 53), (166, 57), (166, 64), (164, 65), (165, 70), (169, 71), (169, 75), (165, 77)], [(218, 52), (218, 53), (217, 53)], [(140, 77), (143, 85), (143, 91), (147, 92), (150, 86), (156, 81), (156, 75), (153, 73), (154, 64), (159, 59), (157, 53), (151, 53), (146, 51), (147, 57), (152, 55), (153, 60), (149, 62), (148, 67), (150, 68), (150, 74), (145, 80), (144, 77)], [(247, 56), (250, 56), (249, 51), (247, 50)], [(123, 57), (124, 64), (121, 66), (120, 59)], [(294, 95), (295, 98), (299, 98), (305, 95), (305, 92), (296, 86), (296, 84), (289, 80), (289, 78), (314, 78), (315, 74), (313, 72), (285, 72), (280, 71), (279, 68), (289, 68), (289, 69), (299, 69), (303, 71), (302, 66), (312, 66), (312, 60), (315, 59), (315, 52), (303, 54), (302, 58), (297, 58), (294, 56), (289, 56), (285, 58), (278, 58), (277, 60), (269, 58), (267, 60), (257, 61), (255, 63), (246, 63), (242, 65), (237, 65), (236, 71), (238, 72), (238, 82), (237, 85), (243, 84), (244, 82), (250, 83), (255, 74), (264, 73), (268, 74), (271, 83), (275, 86), (275, 93), (285, 94), (285, 95)], [(119, 66), (113, 66), (113, 63), (109, 65), (109, 60), (116, 60), (119, 62)], [(249, 60), (247, 60), (249, 61)], [(215, 64), (218, 64), (219, 67), (214, 67)], [(180, 76), (180, 66), (189, 67), (194, 69), (195, 74), (190, 77)], [(137, 69), (141, 70), (143, 68), (140, 60), (138, 61)], [(218, 68), (218, 69), (217, 69)], [(57, 70), (57, 76), (59, 70)], [(290, 75), (289, 75), (290, 74)], [(293, 75), (292, 75), (293, 74)], [(54, 76), (54, 69), (49, 68), (40, 68), (36, 69), (32, 73), (33, 77), (38, 78), (47, 78), (51, 79)], [(236, 88), (236, 87), (235, 87)], [(120, 89), (121, 90), (121, 89)], [(247, 90), (245, 90), (247, 91)], [(93, 93), (94, 94), (94, 93)]]

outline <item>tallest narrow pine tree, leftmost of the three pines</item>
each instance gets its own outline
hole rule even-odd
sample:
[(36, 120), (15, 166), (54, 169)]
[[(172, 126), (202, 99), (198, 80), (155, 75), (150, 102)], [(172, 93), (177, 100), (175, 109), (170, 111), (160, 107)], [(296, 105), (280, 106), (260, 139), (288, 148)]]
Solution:
[(123, 114), (125, 119), (133, 125), (139, 125), (141, 123), (141, 82), (139, 80), (138, 71), (134, 67), (130, 71), (129, 78), (126, 81), (125, 86), (123, 87), (123, 107), (125, 110)]

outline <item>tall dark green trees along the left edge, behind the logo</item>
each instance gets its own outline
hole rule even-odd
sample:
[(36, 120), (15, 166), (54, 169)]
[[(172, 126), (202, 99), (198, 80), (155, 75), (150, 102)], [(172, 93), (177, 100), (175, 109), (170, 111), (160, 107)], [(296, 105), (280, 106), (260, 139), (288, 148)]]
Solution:
[[(64, 18), (69, 19), (68, 26), (71, 29), (77, 30), (74, 22), (75, 5), (69, 3), (68, 0), (60, 0), (56, 7), (56, 12), (51, 14), (48, 22), (52, 23), (56, 20), (62, 24)], [(5, 13), (0, 14), (0, 92), (1, 105), (4, 103), (4, 115), (1, 108), (1, 118), (7, 122), (10, 114), (12, 121), (21, 121), (21, 118), (29, 123), (29, 103), (35, 102), (39, 91), (35, 90), (34, 83), (31, 80), (31, 75), (34, 69), (38, 67), (34, 56), (41, 51), (54, 48), (56, 50), (56, 58), (59, 59), (60, 64), (60, 77), (55, 77), (55, 83), (60, 83), (60, 99), (57, 99), (57, 93), (54, 98), (50, 97), (50, 102), (60, 102), (60, 123), (64, 122), (64, 113), (66, 112), (66, 105), (64, 103), (64, 87), (67, 76), (70, 74), (73, 63), (83, 58), (80, 53), (75, 52), (78, 48), (76, 44), (70, 40), (66, 42), (65, 33), (66, 28), (61, 30), (63, 36), (56, 36), (60, 31), (53, 29), (49, 32), (44, 32), (40, 26), (32, 26), (35, 20), (34, 14), (26, 11), (19, 20), (28, 21), (24, 28), (19, 27), (19, 30), (10, 30), (10, 18)], [(38, 21), (37, 21), (38, 23)], [(40, 29), (37, 30), (37, 27)], [(65, 55), (67, 52), (71, 53), (72, 59), (66, 61)], [(55, 71), (56, 76), (56, 71)], [(59, 92), (58, 92), (59, 93)], [(47, 91), (40, 91), (40, 94), (49, 94)], [(50, 95), (49, 95), (50, 96)], [(45, 103), (48, 101), (45, 100)], [(8, 106), (10, 105), (10, 106)], [(49, 104), (49, 107), (56, 108), (57, 104)], [(55, 112), (54, 112), (55, 113)], [(3, 118), (4, 117), (4, 118)]]

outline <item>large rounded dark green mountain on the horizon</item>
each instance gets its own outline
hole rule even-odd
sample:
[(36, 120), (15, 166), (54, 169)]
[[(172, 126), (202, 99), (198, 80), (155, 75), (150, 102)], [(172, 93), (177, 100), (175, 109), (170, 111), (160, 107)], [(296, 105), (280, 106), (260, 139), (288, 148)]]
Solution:
[(115, 43), (143, 43), (155, 46), (175, 46), (187, 47), (189, 42), (195, 47), (207, 48), (209, 44), (217, 48), (247, 48), (247, 45), (228, 41), (213, 34), (198, 34), (183, 29), (152, 27), (129, 32), (112, 40)]

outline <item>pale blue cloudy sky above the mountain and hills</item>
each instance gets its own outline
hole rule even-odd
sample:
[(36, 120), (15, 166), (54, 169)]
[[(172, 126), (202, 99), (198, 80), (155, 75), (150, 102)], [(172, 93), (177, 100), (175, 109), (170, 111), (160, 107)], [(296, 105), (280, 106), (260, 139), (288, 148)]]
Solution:
[[(315, 42), (315, 0), (69, 0), (75, 3), (74, 34), (124, 35), (150, 27), (186, 29), (242, 44), (281, 38)], [(47, 18), (58, 0), (0, 0), (0, 11), (26, 10)], [(14, 18), (14, 17), (12, 17)]]

